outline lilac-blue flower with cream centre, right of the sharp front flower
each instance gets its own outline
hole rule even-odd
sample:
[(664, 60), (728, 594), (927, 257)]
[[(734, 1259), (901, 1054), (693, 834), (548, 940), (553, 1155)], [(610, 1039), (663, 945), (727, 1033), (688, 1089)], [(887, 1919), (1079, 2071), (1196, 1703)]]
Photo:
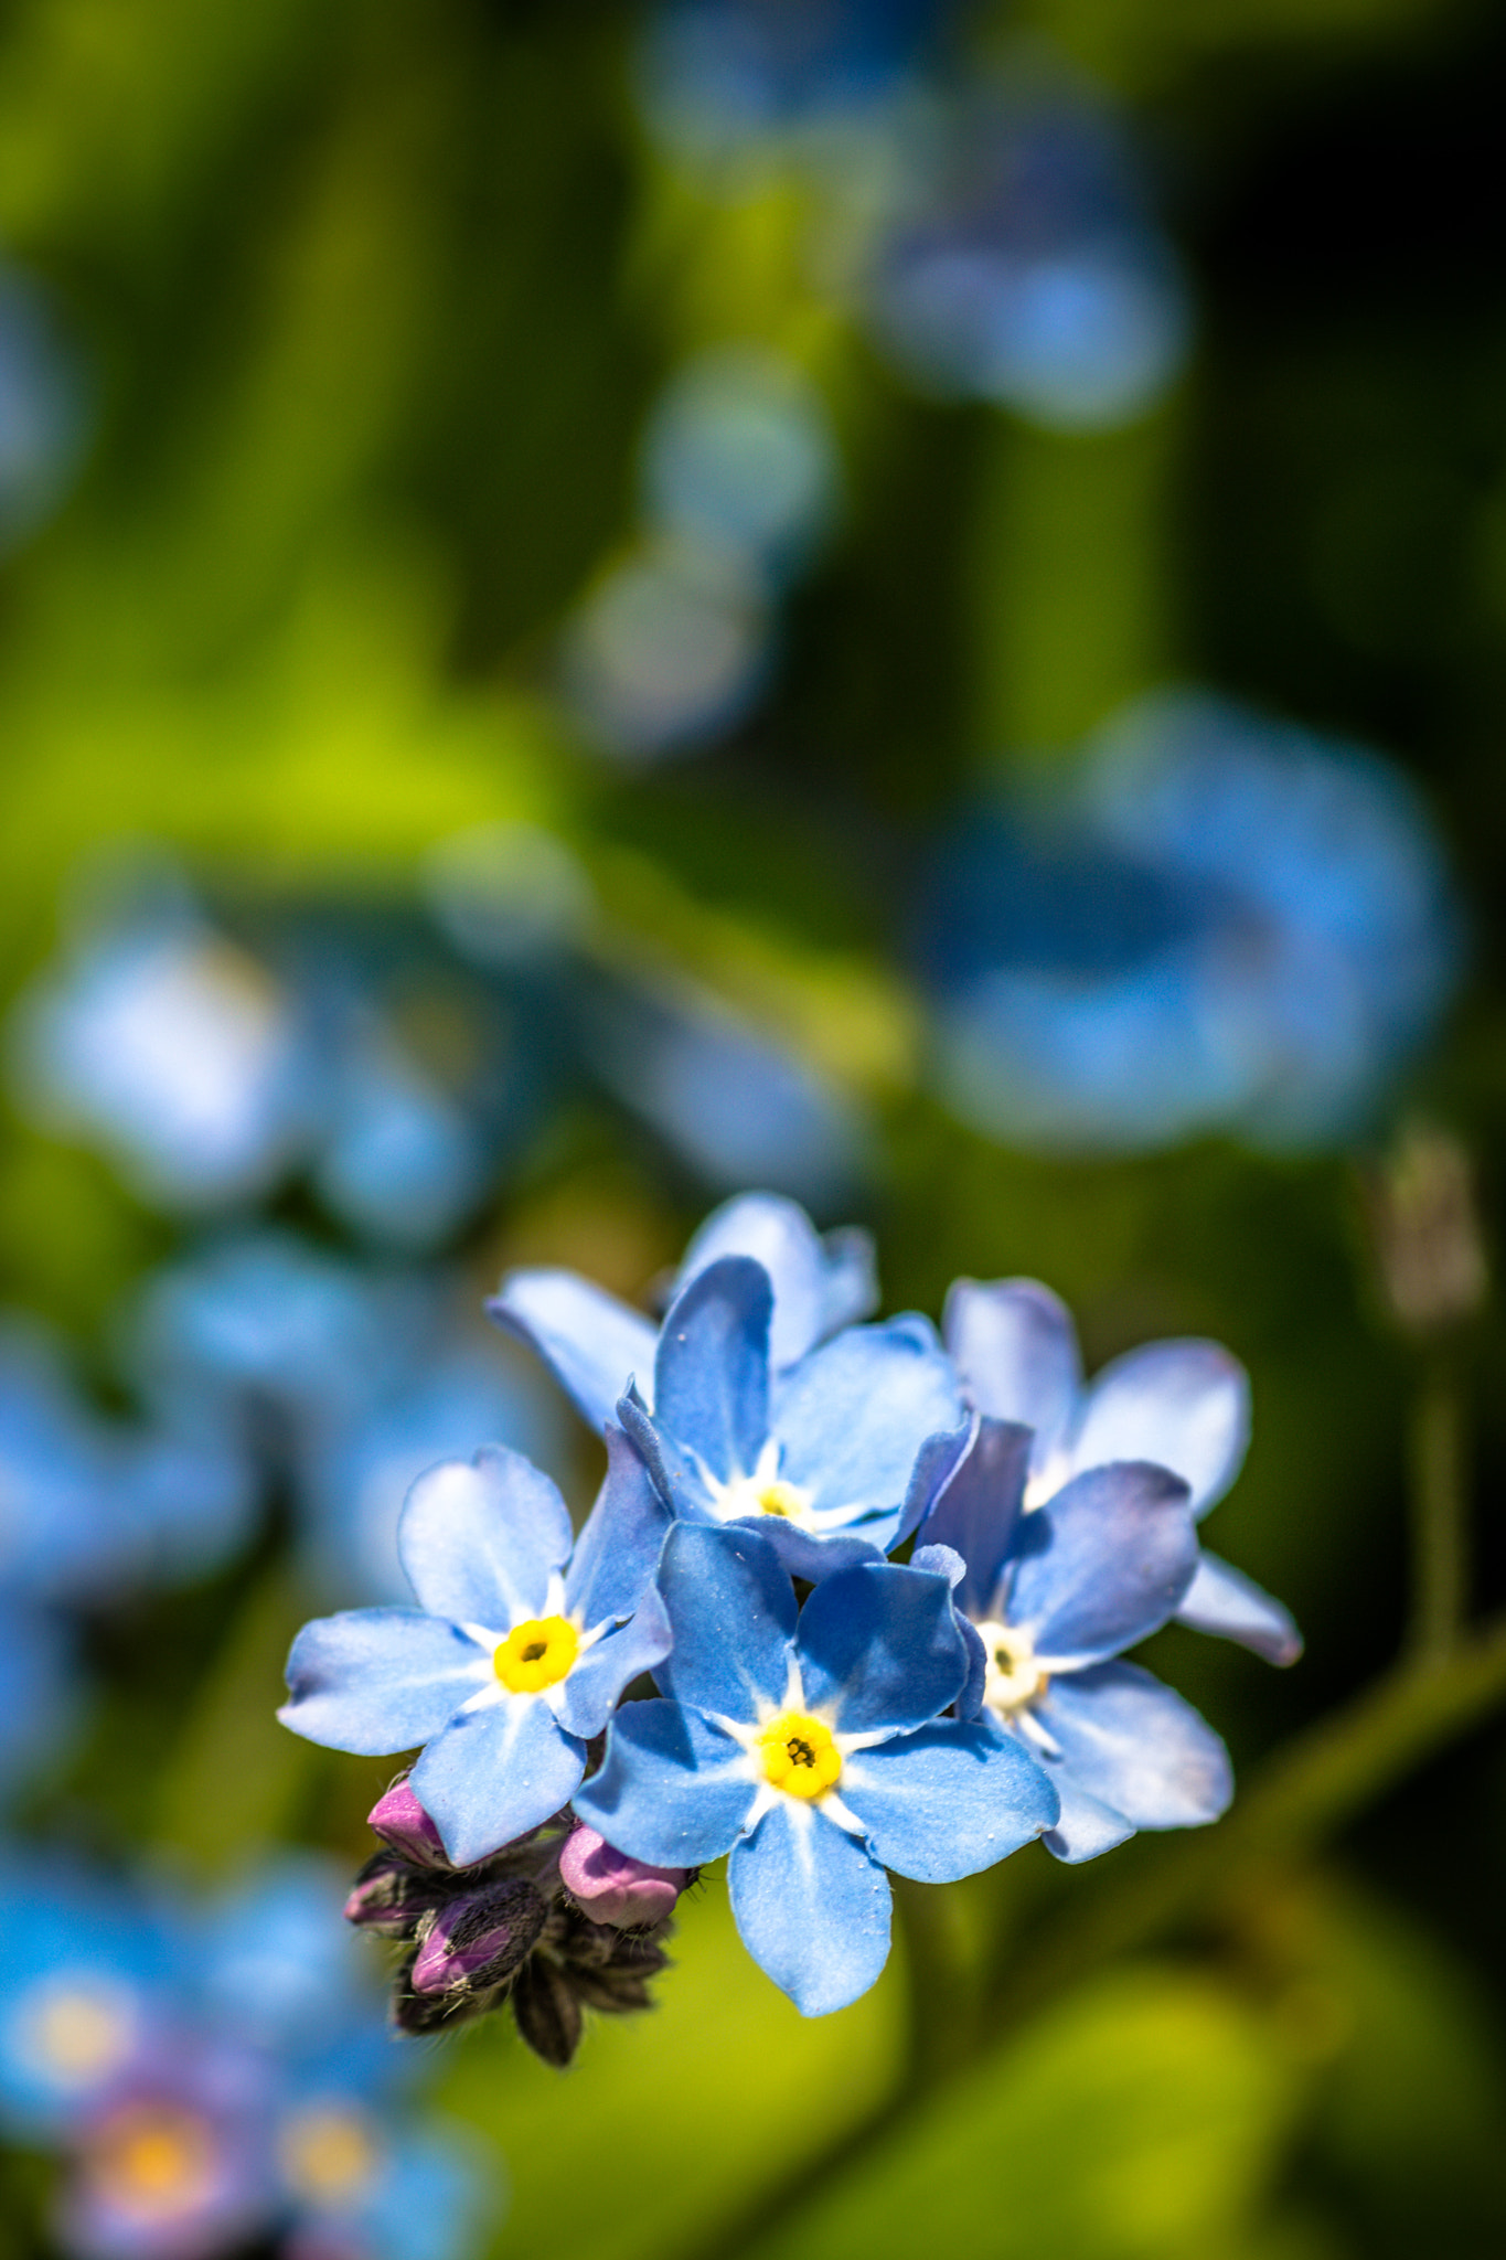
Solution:
[[(1197, 1568), (1188, 1485), (1165, 1467), (1091, 1467), (1025, 1507), (1030, 1431), (982, 1419), (921, 1525), (914, 1559), (948, 1566), (971, 1627), (962, 1715), (987, 1715), (1050, 1774), (1068, 1862), (1136, 1828), (1192, 1828), (1233, 1794), (1228, 1754), (1197, 1711), (1124, 1648), (1158, 1632)], [(930, 1553), (935, 1548), (935, 1555)]]

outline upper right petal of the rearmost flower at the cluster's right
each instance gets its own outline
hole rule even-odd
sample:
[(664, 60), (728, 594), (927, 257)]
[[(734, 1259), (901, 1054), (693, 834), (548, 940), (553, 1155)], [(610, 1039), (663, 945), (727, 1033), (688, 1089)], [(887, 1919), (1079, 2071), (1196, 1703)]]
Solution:
[(1104, 1365), (1082, 1401), (1070, 1437), (1072, 1467), (1154, 1460), (1192, 1492), (1206, 1514), (1244, 1464), (1251, 1385), (1217, 1342), (1147, 1342)]

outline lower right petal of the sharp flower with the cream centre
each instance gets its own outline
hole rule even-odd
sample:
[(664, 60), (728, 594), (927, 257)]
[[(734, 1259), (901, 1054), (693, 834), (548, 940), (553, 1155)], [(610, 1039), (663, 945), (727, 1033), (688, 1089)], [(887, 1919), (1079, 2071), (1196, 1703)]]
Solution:
[(1197, 1828), (1228, 1808), (1228, 1751), (1138, 1663), (1063, 1672), (1036, 1718), (1061, 1749), (1061, 1774), (1136, 1828)]

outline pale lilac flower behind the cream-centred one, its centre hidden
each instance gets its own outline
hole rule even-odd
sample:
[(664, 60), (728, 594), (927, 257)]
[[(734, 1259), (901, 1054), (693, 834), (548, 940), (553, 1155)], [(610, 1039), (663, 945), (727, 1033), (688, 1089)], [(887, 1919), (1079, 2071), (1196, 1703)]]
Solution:
[[(1027, 1507), (1086, 1469), (1152, 1460), (1181, 1476), (1201, 1521), (1240, 1474), (1249, 1379), (1219, 1342), (1145, 1342), (1084, 1385), (1072, 1315), (1036, 1279), (957, 1279), (942, 1327), (971, 1403), (1034, 1431)], [(1303, 1652), (1289, 1611), (1210, 1553), (1199, 1553), (1176, 1618), (1269, 1663), (1296, 1663)]]

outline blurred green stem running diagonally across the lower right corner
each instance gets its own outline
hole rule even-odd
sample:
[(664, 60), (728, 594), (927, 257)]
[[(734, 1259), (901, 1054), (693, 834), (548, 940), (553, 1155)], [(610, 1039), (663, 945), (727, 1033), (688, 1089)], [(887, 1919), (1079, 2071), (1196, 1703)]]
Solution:
[[(944, 2102), (951, 2079), (1104, 1962), (1156, 1944), (1199, 1910), (1217, 1912), (1219, 1901), (1262, 1867), (1316, 1851), (1501, 1700), (1506, 1616), (1461, 1638), (1443, 1659), (1411, 1657), (1341, 1711), (1296, 1736), (1267, 1761), (1228, 1822), (1185, 1837), (1140, 1837), (1131, 1878), (1124, 1878), (1127, 1860), (1120, 1855), (1120, 1867), (1088, 1887), (1086, 1905), (1025, 1939), (1014, 1975), (987, 2005), (987, 2023), (962, 2034), (960, 2050), (921, 2075), (923, 2102)], [(903, 1905), (908, 1910), (908, 1901)], [(786, 2181), (761, 2190), (738, 2219), (689, 2246), (682, 2260), (741, 2260), (763, 2246), (772, 2253), (781, 2226), (813, 2197), (865, 2158), (876, 2158), (894, 2133), (914, 2127), (919, 2102), (912, 2063), (896, 2093), (869, 2118), (838, 2136), (822, 2156), (804, 2161)]]

